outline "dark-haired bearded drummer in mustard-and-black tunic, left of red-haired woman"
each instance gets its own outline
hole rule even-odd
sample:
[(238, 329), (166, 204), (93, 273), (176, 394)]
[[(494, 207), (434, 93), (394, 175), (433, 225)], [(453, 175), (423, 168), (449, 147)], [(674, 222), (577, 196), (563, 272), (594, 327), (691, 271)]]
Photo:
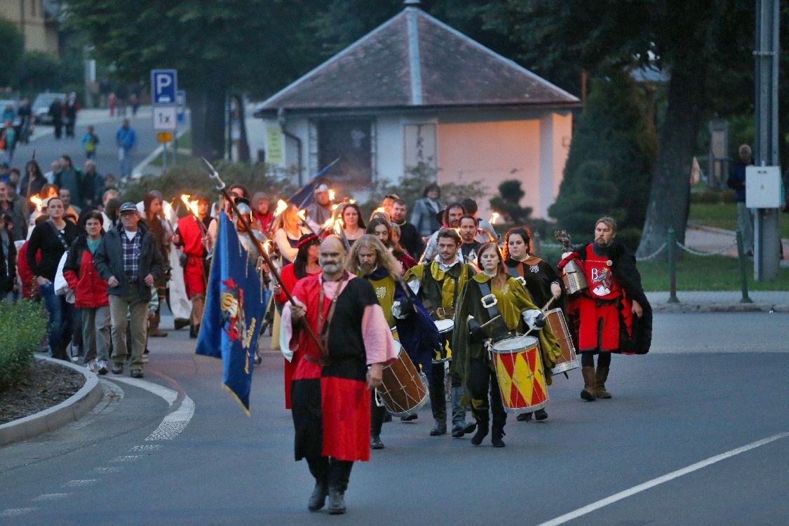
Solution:
[[(447, 210), (449, 210), (449, 208)], [(462, 213), (460, 214), (462, 215)], [(458, 216), (459, 220), (460, 216)], [(458, 300), (458, 293), (466, 285), (476, 270), (468, 263), (463, 263), (458, 248), (460, 237), (453, 229), (440, 229), (436, 233), (436, 250), (438, 254), (433, 260), (425, 261), (411, 268), (404, 279), (413, 293), (424, 304), (433, 319), (451, 320)], [(445, 331), (443, 337), (446, 344), (441, 356), (436, 356), (430, 375), (430, 405), (435, 425), (430, 430), (431, 436), (447, 433), (447, 399), (444, 394), (444, 363), (449, 359), (447, 349), (452, 341), (452, 332)], [(475, 425), (466, 424), (466, 411), (460, 403), (462, 386), (458, 375), (452, 376), (452, 436), (461, 438), (473, 431)]]

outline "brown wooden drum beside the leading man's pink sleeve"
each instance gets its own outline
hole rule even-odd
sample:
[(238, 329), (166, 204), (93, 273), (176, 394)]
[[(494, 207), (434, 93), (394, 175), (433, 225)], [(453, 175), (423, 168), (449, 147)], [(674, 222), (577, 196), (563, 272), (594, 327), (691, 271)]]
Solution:
[(428, 400), (428, 379), (417, 371), (408, 353), (395, 340), (397, 360), (383, 367), (383, 379), (376, 387), (377, 397), (394, 416), (407, 416)]

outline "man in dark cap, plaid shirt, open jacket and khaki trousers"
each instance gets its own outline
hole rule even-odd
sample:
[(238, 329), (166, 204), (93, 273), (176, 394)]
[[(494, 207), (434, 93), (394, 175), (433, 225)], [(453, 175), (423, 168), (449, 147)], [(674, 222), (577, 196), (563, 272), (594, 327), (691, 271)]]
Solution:
[(107, 281), (112, 322), (111, 371), (123, 374), (127, 356), (126, 316), (131, 323), (132, 378), (143, 378), (143, 351), (148, 330), (148, 300), (151, 286), (163, 272), (162, 254), (144, 223), (135, 203), (123, 203), (119, 209), (121, 223), (110, 229), (96, 249), (94, 264), (99, 276)]

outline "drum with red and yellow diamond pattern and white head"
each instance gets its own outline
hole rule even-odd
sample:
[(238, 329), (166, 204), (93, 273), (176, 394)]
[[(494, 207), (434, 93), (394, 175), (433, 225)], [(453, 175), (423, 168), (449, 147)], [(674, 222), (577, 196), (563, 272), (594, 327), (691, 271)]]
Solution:
[(548, 403), (548, 387), (537, 338), (505, 338), (492, 349), (504, 410), (521, 413), (543, 408)]

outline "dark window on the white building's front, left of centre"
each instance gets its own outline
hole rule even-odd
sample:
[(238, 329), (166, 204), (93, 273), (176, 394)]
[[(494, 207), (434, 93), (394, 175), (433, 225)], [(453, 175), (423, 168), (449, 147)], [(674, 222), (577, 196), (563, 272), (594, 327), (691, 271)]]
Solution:
[(375, 130), (371, 119), (319, 121), (317, 132), (318, 170), (339, 159), (329, 172), (332, 179), (372, 181)]

